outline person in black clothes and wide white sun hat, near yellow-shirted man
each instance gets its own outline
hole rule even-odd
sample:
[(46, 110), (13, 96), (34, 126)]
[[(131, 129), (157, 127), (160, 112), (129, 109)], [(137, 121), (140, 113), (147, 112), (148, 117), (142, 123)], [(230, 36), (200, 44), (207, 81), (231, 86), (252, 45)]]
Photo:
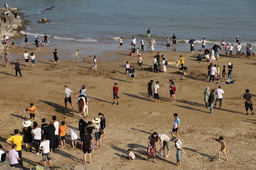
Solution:
[(32, 127), (31, 124), (32, 122), (30, 120), (23, 121), (23, 126), (24, 128), (22, 129), (22, 134), (24, 135), (24, 143), (26, 147), (26, 152), (28, 149), (28, 144), (30, 145), (30, 152), (32, 152)]

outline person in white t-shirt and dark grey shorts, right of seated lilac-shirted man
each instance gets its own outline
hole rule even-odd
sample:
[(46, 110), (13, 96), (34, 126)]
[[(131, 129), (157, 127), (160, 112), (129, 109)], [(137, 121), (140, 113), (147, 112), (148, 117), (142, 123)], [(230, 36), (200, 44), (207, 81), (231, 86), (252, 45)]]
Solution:
[(50, 141), (46, 140), (46, 135), (42, 135), (43, 142), (40, 143), (39, 149), (42, 150), (43, 163), (46, 166), (46, 157), (50, 164), (50, 169), (52, 169), (52, 161), (50, 160)]

